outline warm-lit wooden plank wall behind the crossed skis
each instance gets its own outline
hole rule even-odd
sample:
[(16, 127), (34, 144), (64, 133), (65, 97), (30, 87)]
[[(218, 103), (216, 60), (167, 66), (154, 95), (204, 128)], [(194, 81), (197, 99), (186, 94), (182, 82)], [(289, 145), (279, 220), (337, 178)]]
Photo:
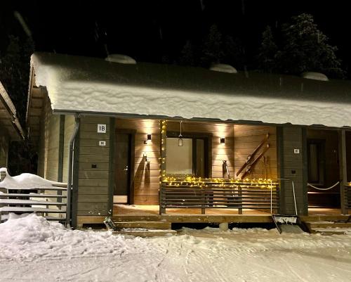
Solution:
[[(268, 143), (270, 148), (265, 153), (267, 158), (267, 168), (265, 169), (264, 159), (261, 158), (256, 165), (252, 167), (252, 173), (246, 174), (245, 178), (249, 179), (265, 179), (265, 170), (267, 170), (267, 179), (277, 179), (277, 134), (275, 127), (259, 126), (259, 125), (234, 125), (234, 172), (235, 176), (242, 165), (244, 165), (248, 155), (253, 153), (253, 150), (265, 138), (266, 134), (270, 134)], [(265, 148), (265, 143), (256, 156)], [(255, 158), (255, 156), (253, 156)], [(245, 172), (245, 169), (243, 170)], [(241, 174), (243, 173), (241, 172)], [(240, 175), (239, 174), (239, 177)]]

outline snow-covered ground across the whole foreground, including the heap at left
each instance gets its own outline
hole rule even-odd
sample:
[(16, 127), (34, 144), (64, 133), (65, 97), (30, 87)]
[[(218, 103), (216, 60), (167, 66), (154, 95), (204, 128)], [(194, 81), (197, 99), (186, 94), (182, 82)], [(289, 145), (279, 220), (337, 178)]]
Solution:
[(351, 281), (351, 236), (181, 233), (127, 238), (11, 216), (0, 224), (0, 281)]

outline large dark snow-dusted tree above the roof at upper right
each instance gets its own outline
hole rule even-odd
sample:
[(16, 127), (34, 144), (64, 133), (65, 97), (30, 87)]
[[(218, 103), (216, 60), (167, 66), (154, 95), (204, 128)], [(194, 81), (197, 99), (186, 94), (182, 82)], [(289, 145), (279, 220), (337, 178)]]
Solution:
[(312, 15), (301, 14), (282, 27), (282, 51), (277, 52), (279, 71), (290, 74), (315, 71), (331, 77), (343, 77), (336, 46), (318, 30)]

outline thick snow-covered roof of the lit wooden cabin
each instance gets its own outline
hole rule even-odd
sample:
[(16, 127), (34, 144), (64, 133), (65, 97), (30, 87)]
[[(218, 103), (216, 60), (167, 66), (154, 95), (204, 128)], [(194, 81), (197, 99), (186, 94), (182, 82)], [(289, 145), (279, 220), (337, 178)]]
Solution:
[(351, 126), (351, 82), (34, 53), (36, 86), (62, 111)]

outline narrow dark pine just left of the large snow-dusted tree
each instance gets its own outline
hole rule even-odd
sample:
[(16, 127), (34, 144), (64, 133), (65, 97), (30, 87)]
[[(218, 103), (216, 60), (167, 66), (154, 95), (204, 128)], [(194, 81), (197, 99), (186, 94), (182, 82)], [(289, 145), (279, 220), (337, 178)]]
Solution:
[(258, 49), (258, 69), (265, 72), (273, 72), (276, 68), (278, 47), (274, 42), (272, 29), (269, 25), (262, 33), (262, 42)]

